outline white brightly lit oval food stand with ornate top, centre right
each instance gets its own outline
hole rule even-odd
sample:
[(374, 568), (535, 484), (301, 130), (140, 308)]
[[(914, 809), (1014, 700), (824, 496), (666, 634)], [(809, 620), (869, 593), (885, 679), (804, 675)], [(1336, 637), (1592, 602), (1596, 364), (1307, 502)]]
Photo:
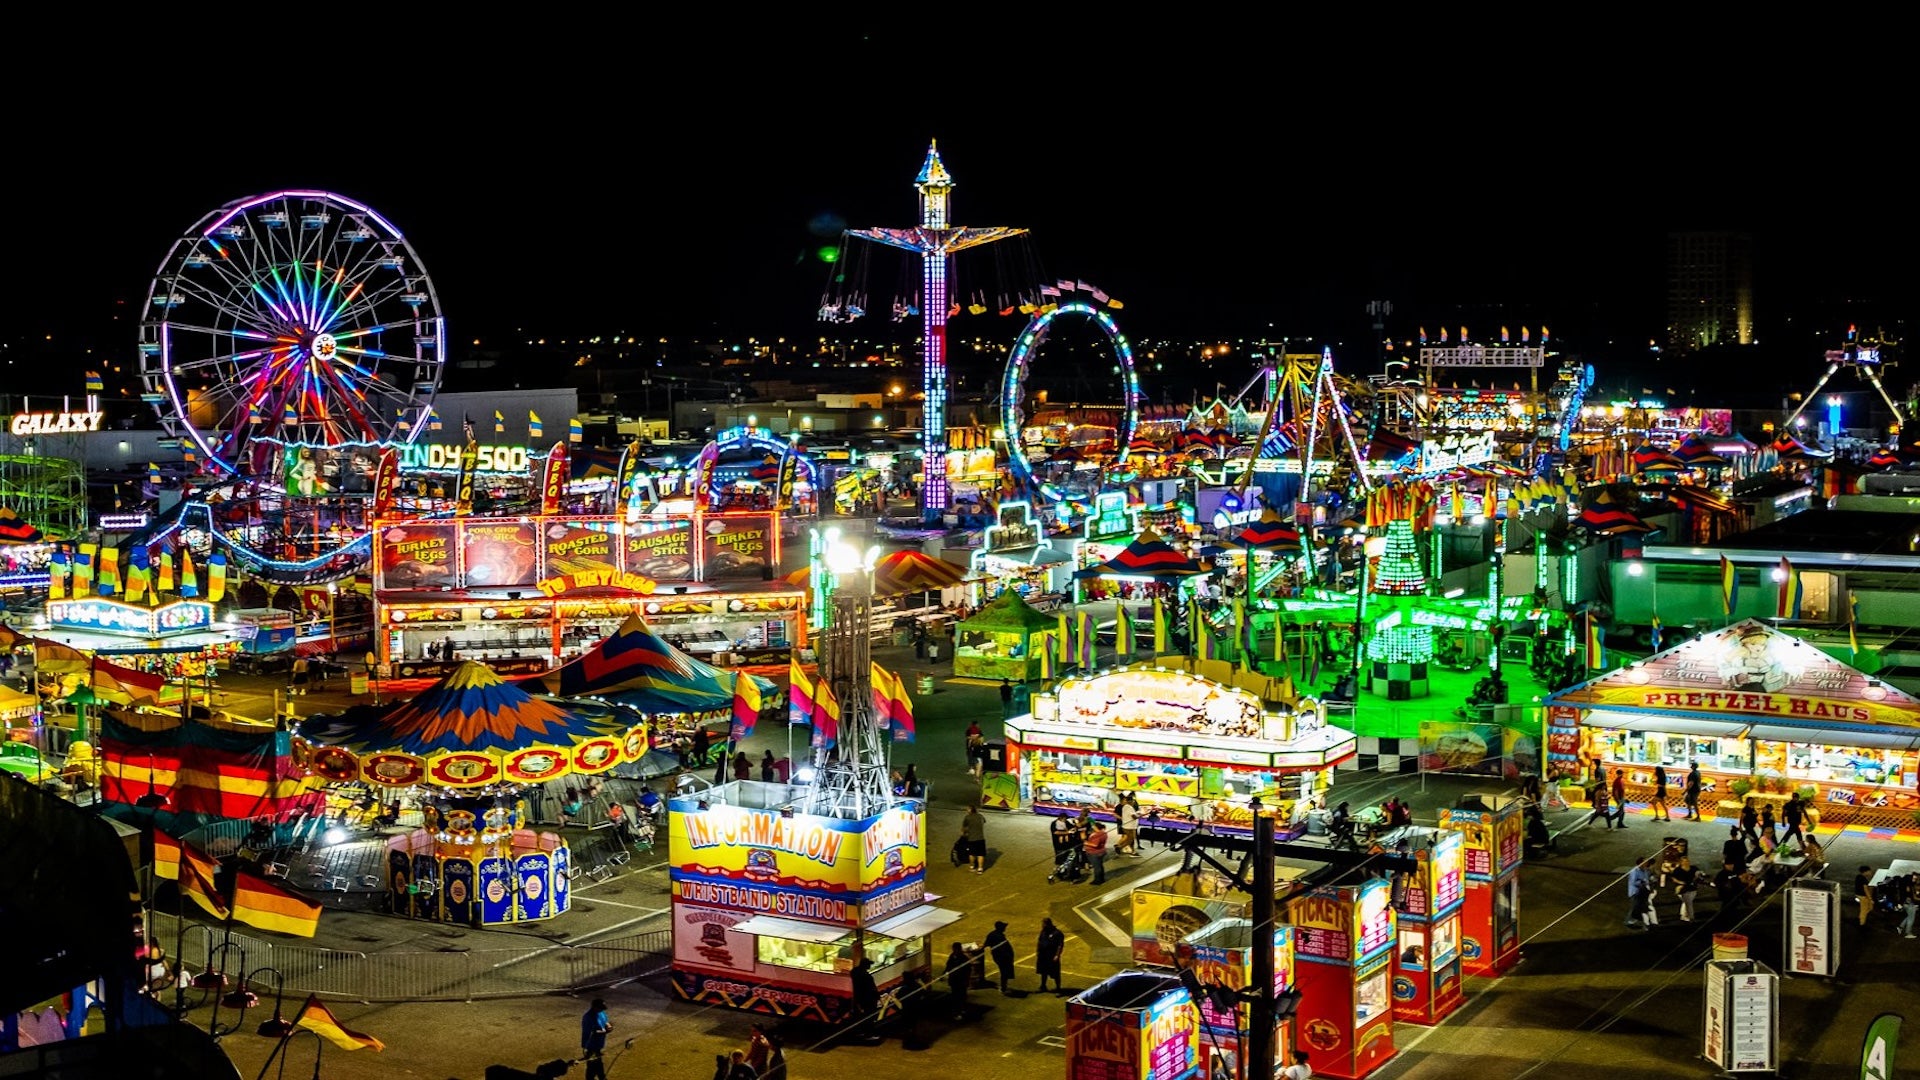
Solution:
[(1087, 809), (1114, 821), (1131, 792), (1152, 824), (1252, 834), (1258, 796), (1277, 836), (1300, 836), (1356, 738), (1313, 698), (1290, 698), (1288, 684), (1221, 673), (1235, 682), (1135, 663), (1035, 694), (1033, 713), (1006, 723), (1018, 790), (1002, 809), (1018, 798), (1043, 815)]

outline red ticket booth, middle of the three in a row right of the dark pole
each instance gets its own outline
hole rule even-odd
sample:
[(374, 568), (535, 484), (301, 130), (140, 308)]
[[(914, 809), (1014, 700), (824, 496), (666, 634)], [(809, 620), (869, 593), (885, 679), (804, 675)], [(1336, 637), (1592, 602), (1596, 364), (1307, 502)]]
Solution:
[(1394, 944), (1394, 1019), (1438, 1024), (1467, 999), (1459, 974), (1459, 913), (1467, 899), (1467, 836), (1452, 828), (1402, 828), (1417, 861), (1394, 882), (1398, 940)]

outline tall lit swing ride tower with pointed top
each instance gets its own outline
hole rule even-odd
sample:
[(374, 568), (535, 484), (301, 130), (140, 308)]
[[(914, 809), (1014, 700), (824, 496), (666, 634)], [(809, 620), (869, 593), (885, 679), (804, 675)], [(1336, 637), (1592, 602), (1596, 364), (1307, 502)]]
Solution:
[(947, 267), (948, 259), (968, 248), (1020, 236), (1025, 229), (1004, 225), (968, 229), (948, 225), (947, 198), (954, 188), (952, 175), (941, 163), (939, 142), (927, 144), (927, 161), (914, 177), (920, 190), (920, 225), (912, 229), (849, 229), (849, 236), (874, 240), (889, 248), (920, 256), (920, 319), (925, 367), (925, 407), (920, 425), (920, 486), (922, 519), (937, 519), (947, 511)]

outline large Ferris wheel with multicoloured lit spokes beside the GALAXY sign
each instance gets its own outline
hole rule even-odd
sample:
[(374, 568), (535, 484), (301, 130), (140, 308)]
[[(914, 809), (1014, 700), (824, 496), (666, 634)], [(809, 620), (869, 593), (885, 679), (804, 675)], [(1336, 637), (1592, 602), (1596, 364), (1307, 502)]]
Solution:
[(273, 444), (411, 442), (445, 325), (413, 246), (317, 190), (230, 202), (173, 244), (140, 323), (144, 400), (223, 473)]

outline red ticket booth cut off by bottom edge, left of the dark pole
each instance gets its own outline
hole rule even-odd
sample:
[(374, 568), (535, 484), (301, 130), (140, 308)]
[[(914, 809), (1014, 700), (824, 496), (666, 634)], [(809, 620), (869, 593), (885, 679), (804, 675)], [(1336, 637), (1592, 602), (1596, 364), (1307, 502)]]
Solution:
[(1068, 999), (1068, 1080), (1200, 1076), (1200, 1009), (1177, 976), (1123, 970)]

